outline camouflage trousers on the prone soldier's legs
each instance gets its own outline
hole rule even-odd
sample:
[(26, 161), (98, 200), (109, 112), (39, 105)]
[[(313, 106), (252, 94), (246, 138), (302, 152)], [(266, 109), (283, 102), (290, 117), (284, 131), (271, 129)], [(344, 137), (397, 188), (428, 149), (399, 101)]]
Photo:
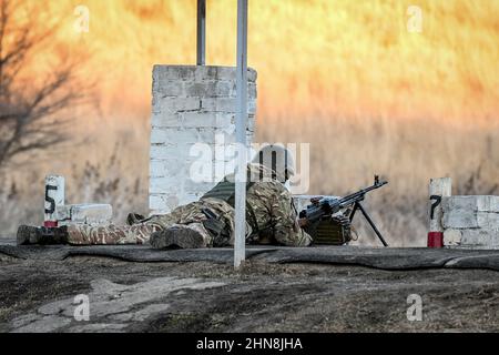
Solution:
[[(212, 235), (203, 225), (206, 213), (225, 223), (230, 236)], [(169, 214), (153, 215), (133, 225), (69, 225), (68, 243), (72, 245), (145, 244), (151, 234), (175, 225), (193, 229), (203, 235), (206, 246), (234, 245), (234, 209), (217, 199), (204, 199), (182, 205)]]

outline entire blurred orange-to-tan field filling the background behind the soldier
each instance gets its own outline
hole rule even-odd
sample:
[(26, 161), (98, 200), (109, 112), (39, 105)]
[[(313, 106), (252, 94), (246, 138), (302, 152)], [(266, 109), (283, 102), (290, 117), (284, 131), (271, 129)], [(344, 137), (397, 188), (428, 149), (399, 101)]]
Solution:
[[(257, 141), (310, 142), (312, 194), (387, 178), (369, 205), (395, 245), (425, 244), (430, 178), (499, 193), (499, 1), (419, 0), (422, 32), (409, 33), (413, 2), (249, 1)], [(210, 64), (235, 61), (234, 3), (208, 0)], [(85, 4), (90, 32), (77, 33), (73, 1), (48, 3), (63, 26), (45, 54), (91, 54), (98, 110), (80, 112), (74, 144), (4, 172), (3, 233), (41, 222), (49, 172), (67, 175), (71, 202), (111, 202), (121, 221), (146, 210), (151, 69), (194, 63), (195, 1)]]

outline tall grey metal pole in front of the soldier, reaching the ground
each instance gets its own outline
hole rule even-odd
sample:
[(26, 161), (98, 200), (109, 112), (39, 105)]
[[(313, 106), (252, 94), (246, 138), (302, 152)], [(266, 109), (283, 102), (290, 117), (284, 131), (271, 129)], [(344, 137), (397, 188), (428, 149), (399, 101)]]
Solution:
[(237, 0), (237, 100), (234, 267), (246, 258), (247, 0)]

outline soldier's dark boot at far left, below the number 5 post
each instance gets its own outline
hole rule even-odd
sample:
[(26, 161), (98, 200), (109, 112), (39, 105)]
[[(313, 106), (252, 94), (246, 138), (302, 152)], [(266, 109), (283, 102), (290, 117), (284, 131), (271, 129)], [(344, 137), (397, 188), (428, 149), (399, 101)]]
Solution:
[(68, 229), (65, 226), (45, 227), (33, 225), (20, 225), (17, 234), (17, 243), (18, 245), (67, 244)]

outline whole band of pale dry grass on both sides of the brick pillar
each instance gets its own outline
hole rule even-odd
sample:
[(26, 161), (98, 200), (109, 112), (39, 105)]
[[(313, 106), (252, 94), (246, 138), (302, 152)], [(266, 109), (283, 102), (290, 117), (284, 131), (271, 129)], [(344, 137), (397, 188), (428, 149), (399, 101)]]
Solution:
[[(310, 194), (344, 195), (370, 184), (375, 173), (386, 178), (389, 185), (367, 203), (391, 245), (425, 245), (430, 178), (451, 176), (455, 194), (499, 194), (497, 129), (456, 129), (429, 120), (304, 123), (258, 122), (257, 141), (310, 142)], [(67, 176), (68, 202), (111, 203), (121, 223), (130, 211), (147, 212), (149, 132), (138, 124), (109, 130), (114, 134), (92, 131), (92, 140), (53, 154), (57, 161), (24, 165), (3, 180), (3, 233), (19, 223), (41, 223), (49, 172)], [(377, 243), (364, 223), (357, 227), (361, 243)]]

